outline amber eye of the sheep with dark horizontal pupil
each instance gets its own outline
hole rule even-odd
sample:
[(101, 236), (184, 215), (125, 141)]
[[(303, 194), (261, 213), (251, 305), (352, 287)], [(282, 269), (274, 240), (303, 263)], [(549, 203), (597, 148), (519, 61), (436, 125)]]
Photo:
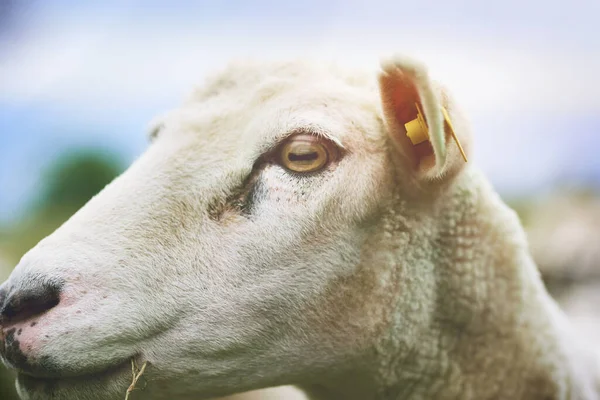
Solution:
[(330, 160), (329, 150), (321, 140), (313, 135), (297, 135), (289, 139), (281, 148), (281, 164), (294, 172), (316, 172), (323, 169)]

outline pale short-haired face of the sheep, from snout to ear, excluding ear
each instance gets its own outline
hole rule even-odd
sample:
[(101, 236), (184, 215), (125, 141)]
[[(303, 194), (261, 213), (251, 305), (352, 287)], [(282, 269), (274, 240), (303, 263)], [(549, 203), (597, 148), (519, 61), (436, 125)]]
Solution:
[(161, 118), (2, 286), (21, 396), (119, 398), (132, 360), (146, 399), (366, 368), (398, 295), (385, 250), (413, 252), (436, 198), (381, 104), (376, 73), (234, 66)]

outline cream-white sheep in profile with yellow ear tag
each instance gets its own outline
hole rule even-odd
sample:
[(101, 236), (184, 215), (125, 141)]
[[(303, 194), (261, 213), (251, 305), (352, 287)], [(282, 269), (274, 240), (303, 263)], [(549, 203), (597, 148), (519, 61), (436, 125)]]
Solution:
[(23, 399), (599, 398), (419, 62), (235, 64), (151, 140), (0, 289)]

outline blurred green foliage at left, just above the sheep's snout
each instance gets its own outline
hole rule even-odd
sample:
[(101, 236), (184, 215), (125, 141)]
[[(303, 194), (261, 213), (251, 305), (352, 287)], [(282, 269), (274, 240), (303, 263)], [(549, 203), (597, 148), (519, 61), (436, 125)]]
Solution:
[[(0, 227), (0, 281), (10, 265), (37, 242), (52, 233), (89, 199), (100, 192), (124, 169), (116, 154), (98, 149), (69, 151), (55, 160), (40, 179), (38, 196), (26, 208), (24, 217), (11, 226)], [(0, 399), (18, 399), (14, 376), (0, 367)]]

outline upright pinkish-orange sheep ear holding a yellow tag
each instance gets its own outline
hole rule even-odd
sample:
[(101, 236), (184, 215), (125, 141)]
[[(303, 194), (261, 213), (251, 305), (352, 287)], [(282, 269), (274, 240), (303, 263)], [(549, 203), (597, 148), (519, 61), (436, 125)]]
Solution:
[[(379, 87), (388, 132), (407, 167), (418, 178), (439, 179), (467, 161), (463, 135), (452, 121), (447, 96), (430, 81), (427, 69), (394, 57), (382, 62)], [(462, 121), (461, 121), (462, 122)]]

